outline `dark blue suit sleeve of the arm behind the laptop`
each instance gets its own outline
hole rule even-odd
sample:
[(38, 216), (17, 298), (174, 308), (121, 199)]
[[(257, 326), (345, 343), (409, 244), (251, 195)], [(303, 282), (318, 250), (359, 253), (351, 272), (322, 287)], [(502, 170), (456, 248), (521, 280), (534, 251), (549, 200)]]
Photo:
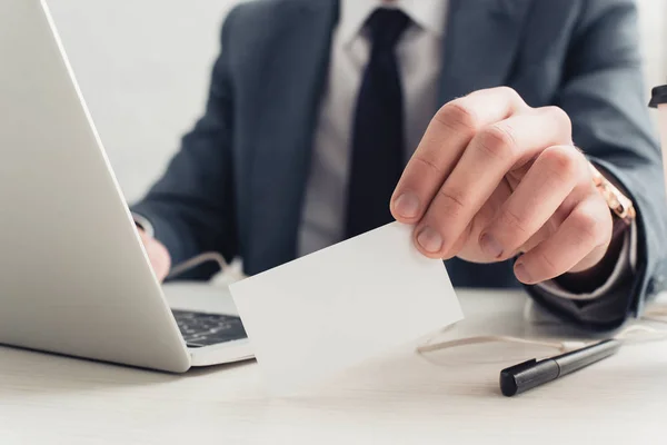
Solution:
[[(150, 221), (155, 237), (165, 244), (172, 263), (202, 251), (237, 255), (232, 178), (232, 93), (227, 57), (233, 11), (222, 27), (225, 48), (212, 69), (206, 112), (182, 138), (178, 154), (147, 196), (132, 206), (133, 214)], [(207, 278), (215, 269), (202, 268), (186, 278)]]

